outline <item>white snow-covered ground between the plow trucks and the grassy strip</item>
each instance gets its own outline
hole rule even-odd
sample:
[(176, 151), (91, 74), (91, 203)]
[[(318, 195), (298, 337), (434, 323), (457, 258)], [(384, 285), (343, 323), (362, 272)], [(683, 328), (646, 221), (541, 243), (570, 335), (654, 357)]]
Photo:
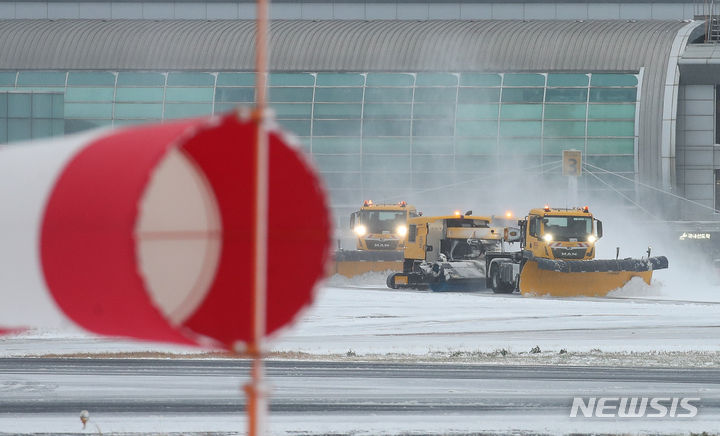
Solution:
[[(658, 279), (652, 286), (634, 280), (607, 298), (537, 298), (390, 290), (385, 276), (329, 279), (315, 304), (271, 342), (272, 350), (301, 358), (293, 353), (437, 358), (527, 353), (536, 346), (553, 354), (720, 352), (720, 287), (698, 292)], [(149, 351), (205, 350), (74, 332), (0, 337), (0, 356)]]

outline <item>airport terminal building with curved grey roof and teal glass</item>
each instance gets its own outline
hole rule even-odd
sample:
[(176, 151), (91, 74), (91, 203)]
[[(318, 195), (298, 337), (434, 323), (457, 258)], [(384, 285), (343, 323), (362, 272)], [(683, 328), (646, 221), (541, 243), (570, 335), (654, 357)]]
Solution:
[[(0, 143), (252, 104), (254, 8), (0, 1)], [(566, 149), (584, 153), (591, 198), (715, 221), (714, 12), (693, 1), (278, 1), (269, 98), (338, 225), (364, 199), (442, 204), (449, 187), (487, 189), (517, 171), (563, 187)], [(673, 206), (658, 208), (665, 198)]]

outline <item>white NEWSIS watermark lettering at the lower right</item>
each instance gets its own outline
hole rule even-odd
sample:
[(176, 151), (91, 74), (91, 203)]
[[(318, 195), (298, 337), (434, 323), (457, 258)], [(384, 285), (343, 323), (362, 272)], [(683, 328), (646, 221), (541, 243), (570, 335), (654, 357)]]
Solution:
[(693, 418), (700, 398), (691, 397), (575, 397), (570, 417), (577, 418)]

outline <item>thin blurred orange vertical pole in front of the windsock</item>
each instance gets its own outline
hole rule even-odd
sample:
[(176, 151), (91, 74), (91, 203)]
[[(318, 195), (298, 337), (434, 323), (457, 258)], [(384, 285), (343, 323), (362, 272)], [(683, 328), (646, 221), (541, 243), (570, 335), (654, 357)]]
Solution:
[(253, 341), (251, 384), (247, 389), (248, 435), (265, 434), (264, 418), (267, 403), (263, 386), (264, 337), (267, 314), (267, 233), (270, 156), (266, 126), (267, 112), (267, 45), (268, 45), (268, 0), (257, 0), (257, 31), (255, 41), (255, 270), (253, 287)]

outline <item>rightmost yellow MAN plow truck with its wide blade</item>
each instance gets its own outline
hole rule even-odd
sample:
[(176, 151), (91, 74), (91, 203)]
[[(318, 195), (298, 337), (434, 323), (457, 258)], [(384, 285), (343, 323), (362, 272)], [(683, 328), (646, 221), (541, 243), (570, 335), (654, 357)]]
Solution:
[(518, 221), (520, 251), (488, 253), (487, 286), (496, 293), (604, 296), (633, 277), (650, 283), (652, 272), (668, 267), (665, 256), (595, 259), (602, 222), (588, 207), (532, 209)]

